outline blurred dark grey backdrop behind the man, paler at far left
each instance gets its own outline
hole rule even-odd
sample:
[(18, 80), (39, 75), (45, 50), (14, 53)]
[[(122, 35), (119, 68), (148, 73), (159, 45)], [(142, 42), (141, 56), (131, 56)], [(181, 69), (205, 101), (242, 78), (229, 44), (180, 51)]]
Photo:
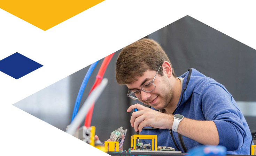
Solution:
[[(162, 45), (177, 76), (195, 68), (223, 84), (239, 104), (250, 130), (256, 130), (256, 113), (253, 112), (256, 110), (256, 50), (190, 16), (146, 37)], [(109, 83), (95, 103), (91, 125), (96, 127), (96, 135), (102, 141), (123, 126), (128, 130), (124, 142), (124, 149), (128, 149), (130, 137), (135, 132), (130, 125), (131, 113), (126, 110), (138, 101), (129, 99), (127, 88), (116, 83), (115, 63), (119, 52), (114, 54), (105, 72), (104, 77)], [(102, 61), (99, 61), (87, 83), (81, 104), (88, 96)], [(79, 70), (14, 105), (64, 131), (70, 124), (76, 97), (88, 69)]]

